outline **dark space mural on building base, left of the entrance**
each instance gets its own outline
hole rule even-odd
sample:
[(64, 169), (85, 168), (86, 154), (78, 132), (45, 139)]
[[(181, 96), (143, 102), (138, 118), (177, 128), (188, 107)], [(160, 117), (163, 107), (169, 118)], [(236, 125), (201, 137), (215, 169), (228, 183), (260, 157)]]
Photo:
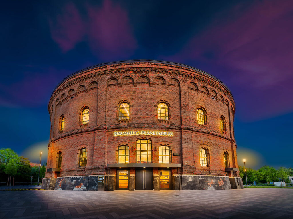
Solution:
[(100, 177), (57, 177), (54, 190), (97, 191)]

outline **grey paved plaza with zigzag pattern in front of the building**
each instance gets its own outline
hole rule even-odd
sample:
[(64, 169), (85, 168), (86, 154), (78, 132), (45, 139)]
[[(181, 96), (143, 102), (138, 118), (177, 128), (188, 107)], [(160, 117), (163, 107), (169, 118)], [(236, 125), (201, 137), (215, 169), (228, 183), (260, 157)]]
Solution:
[(293, 218), (293, 189), (0, 191), (0, 218)]

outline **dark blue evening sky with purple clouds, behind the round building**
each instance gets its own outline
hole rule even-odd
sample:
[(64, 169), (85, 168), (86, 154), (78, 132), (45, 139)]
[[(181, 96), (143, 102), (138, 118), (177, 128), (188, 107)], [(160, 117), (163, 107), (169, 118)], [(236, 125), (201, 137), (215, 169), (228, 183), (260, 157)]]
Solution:
[(0, 11), (0, 148), (38, 162), (47, 104), (64, 77), (154, 59), (230, 88), (239, 164), (293, 166), (292, 1), (6, 1)]

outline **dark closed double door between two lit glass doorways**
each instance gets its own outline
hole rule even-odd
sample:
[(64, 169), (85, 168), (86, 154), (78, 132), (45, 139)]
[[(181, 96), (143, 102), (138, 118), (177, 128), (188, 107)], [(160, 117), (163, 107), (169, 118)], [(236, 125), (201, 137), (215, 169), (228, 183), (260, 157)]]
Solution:
[(136, 190), (152, 190), (153, 184), (153, 169), (136, 169), (135, 170), (135, 189)]

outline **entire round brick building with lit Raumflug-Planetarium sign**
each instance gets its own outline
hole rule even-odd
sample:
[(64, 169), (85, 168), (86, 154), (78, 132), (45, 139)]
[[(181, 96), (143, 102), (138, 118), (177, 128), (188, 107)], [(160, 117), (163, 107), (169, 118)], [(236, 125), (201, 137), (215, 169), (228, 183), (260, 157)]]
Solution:
[(55, 190), (243, 188), (230, 90), (163, 61), (100, 64), (54, 89), (42, 187)]

